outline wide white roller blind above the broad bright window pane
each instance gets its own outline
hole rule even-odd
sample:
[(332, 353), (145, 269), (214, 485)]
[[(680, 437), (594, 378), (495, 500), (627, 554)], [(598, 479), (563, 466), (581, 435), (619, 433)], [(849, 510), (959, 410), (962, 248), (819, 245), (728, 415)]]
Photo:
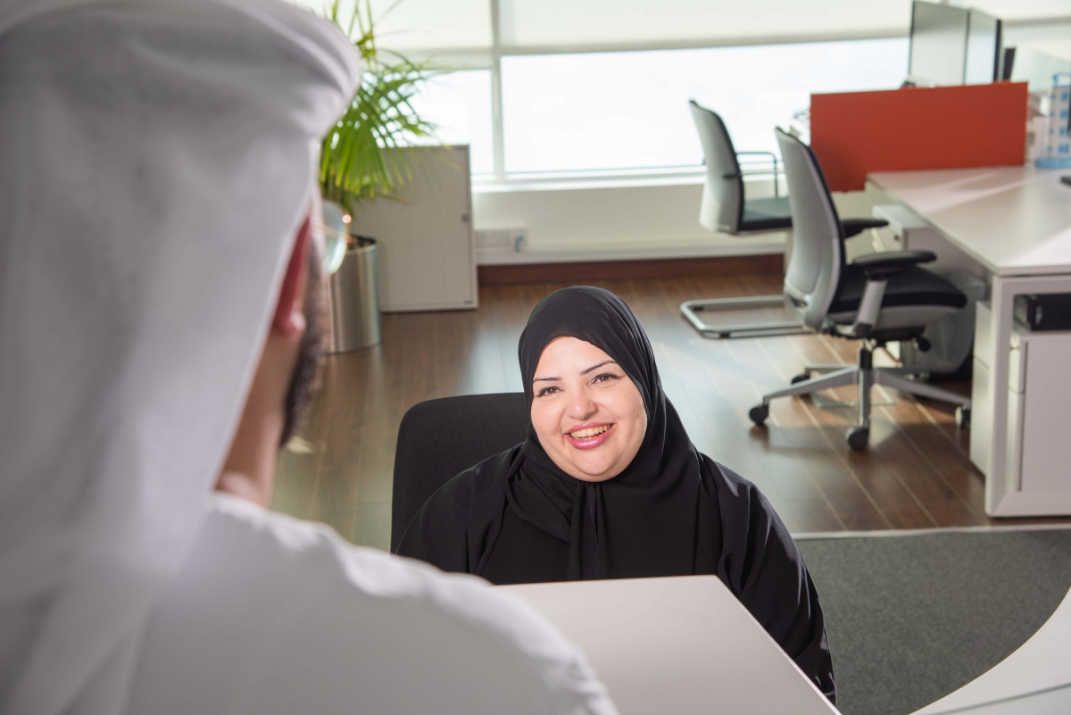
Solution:
[(909, 0), (498, 0), (503, 48), (907, 34)]

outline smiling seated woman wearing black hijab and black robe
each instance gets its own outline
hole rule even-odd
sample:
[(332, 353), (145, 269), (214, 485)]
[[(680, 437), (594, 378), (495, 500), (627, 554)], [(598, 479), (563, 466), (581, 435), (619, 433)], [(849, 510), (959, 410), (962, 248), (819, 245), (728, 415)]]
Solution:
[[(591, 367), (565, 375), (570, 356)], [(796, 544), (753, 484), (696, 451), (624, 302), (590, 287), (552, 293), (519, 358), (527, 439), (436, 491), (398, 553), (493, 583), (716, 574), (835, 703)]]

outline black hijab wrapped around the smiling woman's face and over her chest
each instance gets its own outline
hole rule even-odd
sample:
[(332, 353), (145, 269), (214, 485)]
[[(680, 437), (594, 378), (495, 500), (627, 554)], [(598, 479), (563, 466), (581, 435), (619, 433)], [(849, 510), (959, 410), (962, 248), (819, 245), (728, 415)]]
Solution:
[(590, 483), (555, 465), (529, 423), (522, 459), (506, 477), (510, 506), (569, 544), (570, 580), (715, 573), (716, 529), (705, 537), (698, 530), (720, 521), (716, 502), (703, 488), (699, 455), (662, 391), (654, 353), (636, 317), (624, 301), (600, 288), (565, 288), (547, 296), (532, 311), (518, 346), (529, 407), (543, 349), (562, 336), (600, 348), (635, 383), (647, 409), (647, 431), (624, 471)]

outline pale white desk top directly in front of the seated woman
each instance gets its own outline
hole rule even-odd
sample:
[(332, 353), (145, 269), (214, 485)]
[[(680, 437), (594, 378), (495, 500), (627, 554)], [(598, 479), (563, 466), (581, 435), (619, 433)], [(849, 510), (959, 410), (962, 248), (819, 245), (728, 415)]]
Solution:
[(584, 650), (621, 715), (836, 713), (716, 576), (498, 588)]

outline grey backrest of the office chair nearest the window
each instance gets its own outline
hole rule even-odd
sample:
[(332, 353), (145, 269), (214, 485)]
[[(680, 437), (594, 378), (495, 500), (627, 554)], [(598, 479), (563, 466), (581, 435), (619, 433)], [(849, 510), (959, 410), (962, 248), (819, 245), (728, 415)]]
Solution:
[(707, 182), (703, 187), (699, 224), (708, 231), (736, 233), (743, 217), (743, 177), (725, 122), (716, 112), (689, 100), (703, 143)]

